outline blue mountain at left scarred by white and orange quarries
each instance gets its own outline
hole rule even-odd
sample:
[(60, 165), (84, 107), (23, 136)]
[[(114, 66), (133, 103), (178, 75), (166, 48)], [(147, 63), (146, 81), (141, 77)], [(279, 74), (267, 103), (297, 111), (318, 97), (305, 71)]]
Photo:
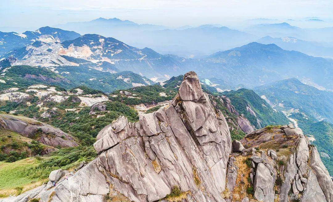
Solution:
[(86, 34), (62, 43), (36, 41), (4, 57), (17, 58), (12, 65), (84, 66), (111, 73), (133, 71), (166, 79), (169, 78), (166, 74), (179, 69), (184, 61), (178, 56), (161, 55), (150, 48), (139, 49), (97, 34)]

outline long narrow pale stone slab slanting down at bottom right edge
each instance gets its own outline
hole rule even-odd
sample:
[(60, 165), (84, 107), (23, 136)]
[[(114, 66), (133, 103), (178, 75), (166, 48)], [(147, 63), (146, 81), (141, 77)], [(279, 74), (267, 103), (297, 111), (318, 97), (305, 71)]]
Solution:
[(317, 177), (319, 186), (325, 194), (326, 201), (333, 202), (333, 181), (321, 161), (316, 147), (313, 147), (311, 151), (310, 167)]

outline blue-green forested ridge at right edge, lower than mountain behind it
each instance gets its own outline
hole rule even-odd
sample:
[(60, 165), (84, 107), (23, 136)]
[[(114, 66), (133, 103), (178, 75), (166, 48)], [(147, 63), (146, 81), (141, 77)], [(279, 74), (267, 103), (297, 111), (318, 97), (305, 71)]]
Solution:
[(333, 123), (333, 92), (318, 90), (292, 78), (254, 88), (275, 109), (301, 109), (318, 121)]

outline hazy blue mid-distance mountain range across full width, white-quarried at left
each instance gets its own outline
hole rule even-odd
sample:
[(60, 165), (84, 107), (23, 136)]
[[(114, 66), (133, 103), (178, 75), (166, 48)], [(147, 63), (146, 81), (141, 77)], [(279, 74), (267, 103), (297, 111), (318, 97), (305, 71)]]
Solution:
[(9, 63), (53, 68), (85, 66), (111, 73), (133, 71), (154, 81), (195, 70), (200, 78), (222, 79), (229, 86), (248, 88), (297, 77), (317, 88), (333, 89), (333, 60), (255, 42), (202, 59), (188, 59), (162, 55), (147, 47), (139, 49), (111, 37), (85, 34), (60, 43), (35, 41), (7, 53), (0, 66)]

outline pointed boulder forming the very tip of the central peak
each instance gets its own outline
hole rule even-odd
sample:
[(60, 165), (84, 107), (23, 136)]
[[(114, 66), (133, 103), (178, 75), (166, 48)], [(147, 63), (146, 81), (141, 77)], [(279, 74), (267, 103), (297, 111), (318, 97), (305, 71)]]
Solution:
[(184, 74), (184, 80), (180, 84), (178, 94), (181, 100), (195, 103), (203, 96), (201, 84), (195, 72)]

